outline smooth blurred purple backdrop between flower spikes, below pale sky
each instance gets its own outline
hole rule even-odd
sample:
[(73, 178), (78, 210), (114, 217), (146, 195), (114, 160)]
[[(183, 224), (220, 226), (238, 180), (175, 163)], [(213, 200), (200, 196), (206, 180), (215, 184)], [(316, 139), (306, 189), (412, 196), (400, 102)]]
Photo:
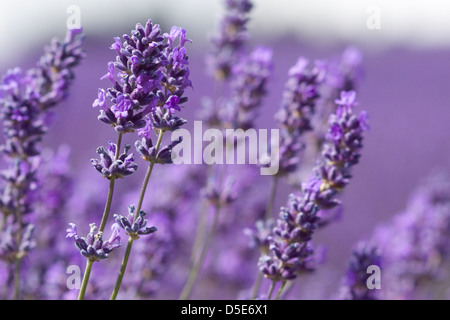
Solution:
[[(82, 14), (94, 13), (84, 10), (83, 5), (80, 7)], [(109, 49), (113, 37), (129, 32), (136, 22), (145, 23), (149, 17), (167, 31), (172, 24), (182, 25), (183, 21), (175, 18), (180, 15), (171, 15), (170, 10), (158, 11), (156, 15), (151, 10), (145, 11), (146, 14), (123, 18), (118, 24), (109, 21), (101, 30), (89, 25), (85, 27), (87, 57), (77, 68), (70, 97), (57, 108), (55, 122), (45, 138), (47, 146), (57, 147), (64, 143), (72, 148), (74, 173), (85, 176), (81, 172), (92, 171), (89, 160), (95, 156), (96, 147), (112, 138), (111, 129), (97, 120), (98, 110), (92, 108), (92, 102), (97, 97), (97, 89), (106, 86), (106, 80), (101, 81), (100, 77), (107, 72), (107, 62), (114, 59), (114, 52)], [(216, 16), (216, 13), (211, 15)], [(386, 15), (389, 15), (389, 10), (386, 10)], [(57, 21), (61, 22), (67, 15), (59, 12), (56, 16)], [(258, 17), (256, 15), (254, 19)], [(362, 11), (362, 29), (366, 17)], [(202, 97), (210, 96), (212, 92), (212, 81), (206, 74), (204, 63), (211, 27), (209, 19), (203, 34), (198, 32), (202, 29), (199, 26), (202, 21), (189, 20), (187, 25), (182, 25), (188, 30), (188, 35), (190, 24), (195, 30), (191, 36), (194, 43), (189, 48), (194, 90), (189, 92), (190, 102), (182, 112), (182, 116), (190, 122), (197, 119), (195, 110), (200, 107)], [(276, 19), (274, 24), (278, 21), (280, 19)], [(378, 223), (388, 221), (401, 211), (411, 191), (428, 174), (439, 168), (450, 170), (450, 50), (445, 46), (418, 48), (402, 41), (378, 46), (378, 35), (375, 33), (389, 32), (384, 29), (362, 31), (369, 38), (365, 42), (349, 41), (344, 37), (333, 41), (326, 41), (325, 37), (315, 41), (312, 36), (303, 34), (299, 37), (292, 30), (284, 35), (264, 37), (256, 30), (262, 22), (254, 23), (250, 29), (249, 44), (272, 47), (275, 61), (269, 96), (257, 121), (261, 128), (276, 127), (273, 114), (280, 107), (287, 70), (299, 56), (310, 60), (328, 59), (340, 55), (347, 45), (356, 45), (363, 53), (364, 79), (358, 89), (358, 100), (359, 108), (367, 110), (370, 115), (371, 129), (366, 136), (361, 163), (354, 169), (354, 178), (341, 197), (344, 207), (342, 221), (332, 224), (315, 237), (316, 244), (328, 248), (328, 261), (320, 267), (315, 277), (323, 277), (326, 273), (330, 276), (330, 287), (336, 287), (354, 244), (368, 237)], [(318, 19), (317, 24), (320, 23), (326, 21)], [(65, 25), (60, 23), (60, 26), (58, 30), (52, 30), (53, 34), (49, 30), (42, 34), (61, 38)], [(387, 24), (386, 28), (389, 27), (392, 24)], [(371, 43), (370, 37), (373, 37), (374, 43)], [(28, 48), (26, 54), (16, 59), (2, 59), (0, 72), (3, 74), (7, 68), (16, 65), (22, 68), (31, 66), (40, 56), (42, 45), (48, 42), (44, 38), (42, 36), (42, 41)], [(3, 50), (9, 49), (4, 47)], [(269, 188), (269, 179), (264, 187)], [(283, 183), (277, 193), (276, 208), (286, 203), (289, 191), (290, 188)]]

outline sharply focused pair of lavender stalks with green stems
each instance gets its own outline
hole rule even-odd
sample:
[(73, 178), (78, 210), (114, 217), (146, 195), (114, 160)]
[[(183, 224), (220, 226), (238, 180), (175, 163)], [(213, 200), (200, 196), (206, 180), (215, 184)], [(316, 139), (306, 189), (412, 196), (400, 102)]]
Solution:
[[(111, 49), (117, 53), (116, 61), (108, 63), (108, 73), (102, 77), (110, 80), (112, 87), (99, 89), (98, 98), (93, 103), (93, 107), (100, 108), (98, 119), (112, 126), (118, 133), (117, 143), (109, 143), (107, 150), (99, 147), (97, 153), (100, 160), (92, 160), (94, 168), (110, 181), (107, 201), (100, 227), (97, 230), (91, 224), (91, 231), (86, 240), (76, 238), (75, 225), (71, 225), (67, 230), (68, 237), (75, 239), (81, 253), (88, 258), (79, 299), (84, 298), (93, 262), (107, 258), (109, 253), (120, 245), (111, 244), (116, 240), (120, 241), (119, 227), (125, 230), (129, 238), (111, 299), (116, 298), (120, 289), (133, 241), (139, 238), (138, 235), (156, 231), (155, 227), (145, 226), (147, 220), (144, 218), (145, 212), (141, 210), (142, 202), (153, 166), (155, 163), (171, 163), (171, 149), (181, 142), (179, 140), (168, 146), (161, 146), (166, 131), (173, 131), (185, 123), (175, 113), (181, 111), (181, 107), (187, 102), (185, 89), (192, 86), (185, 48), (186, 42), (191, 40), (186, 38), (186, 30), (173, 27), (170, 33), (161, 34), (160, 26), (148, 20), (145, 26), (137, 24), (130, 35), (124, 35), (123, 42), (118, 37), (114, 39)], [(111, 106), (108, 106), (106, 98), (112, 103)], [(157, 133), (154, 146), (152, 129)], [(130, 146), (125, 146), (124, 152), (120, 153), (123, 134), (136, 130), (142, 141), (137, 141), (135, 145), (142, 158), (149, 163), (148, 169), (136, 208), (134, 205), (130, 206), (130, 217), (115, 215), (113, 241), (110, 239), (103, 242), (102, 234), (108, 221), (115, 180), (137, 170), (133, 155), (128, 154)], [(102, 244), (107, 244), (106, 248)], [(97, 251), (91, 249), (92, 252), (85, 254), (89, 245)]]

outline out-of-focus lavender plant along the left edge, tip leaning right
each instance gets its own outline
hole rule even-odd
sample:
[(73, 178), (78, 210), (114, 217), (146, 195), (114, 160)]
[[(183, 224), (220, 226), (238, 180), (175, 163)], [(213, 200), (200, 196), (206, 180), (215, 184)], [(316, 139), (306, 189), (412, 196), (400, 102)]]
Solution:
[(39, 142), (47, 132), (52, 109), (68, 96), (73, 68), (84, 56), (82, 38), (77, 36), (80, 33), (81, 29), (70, 29), (63, 42), (53, 39), (34, 68), (8, 70), (0, 85), (5, 138), (0, 150), (8, 164), (1, 174), (0, 231), (6, 241), (2, 257), (15, 265), (15, 299), (19, 298), (22, 260), (34, 247), (32, 216), (41, 154)]

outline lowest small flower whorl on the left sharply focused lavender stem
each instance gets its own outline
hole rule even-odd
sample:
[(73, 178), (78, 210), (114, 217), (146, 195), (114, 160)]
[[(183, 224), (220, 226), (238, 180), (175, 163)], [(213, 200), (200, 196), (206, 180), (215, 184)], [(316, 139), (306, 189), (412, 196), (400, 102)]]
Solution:
[(120, 231), (117, 224), (113, 224), (111, 227), (111, 237), (103, 241), (102, 233), (97, 233), (97, 226), (95, 223), (89, 225), (90, 231), (86, 237), (80, 237), (78, 235), (77, 226), (73, 223), (69, 223), (66, 238), (73, 238), (75, 246), (80, 250), (80, 253), (90, 261), (99, 261), (109, 257), (109, 254), (115, 249), (120, 247)]

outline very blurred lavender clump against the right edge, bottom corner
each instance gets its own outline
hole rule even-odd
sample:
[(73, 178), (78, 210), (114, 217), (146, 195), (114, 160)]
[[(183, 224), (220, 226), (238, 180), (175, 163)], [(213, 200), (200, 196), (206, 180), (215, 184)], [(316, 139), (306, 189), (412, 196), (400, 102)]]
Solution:
[(438, 172), (421, 181), (405, 209), (375, 229), (382, 256), (381, 299), (440, 299), (449, 261), (450, 183)]

